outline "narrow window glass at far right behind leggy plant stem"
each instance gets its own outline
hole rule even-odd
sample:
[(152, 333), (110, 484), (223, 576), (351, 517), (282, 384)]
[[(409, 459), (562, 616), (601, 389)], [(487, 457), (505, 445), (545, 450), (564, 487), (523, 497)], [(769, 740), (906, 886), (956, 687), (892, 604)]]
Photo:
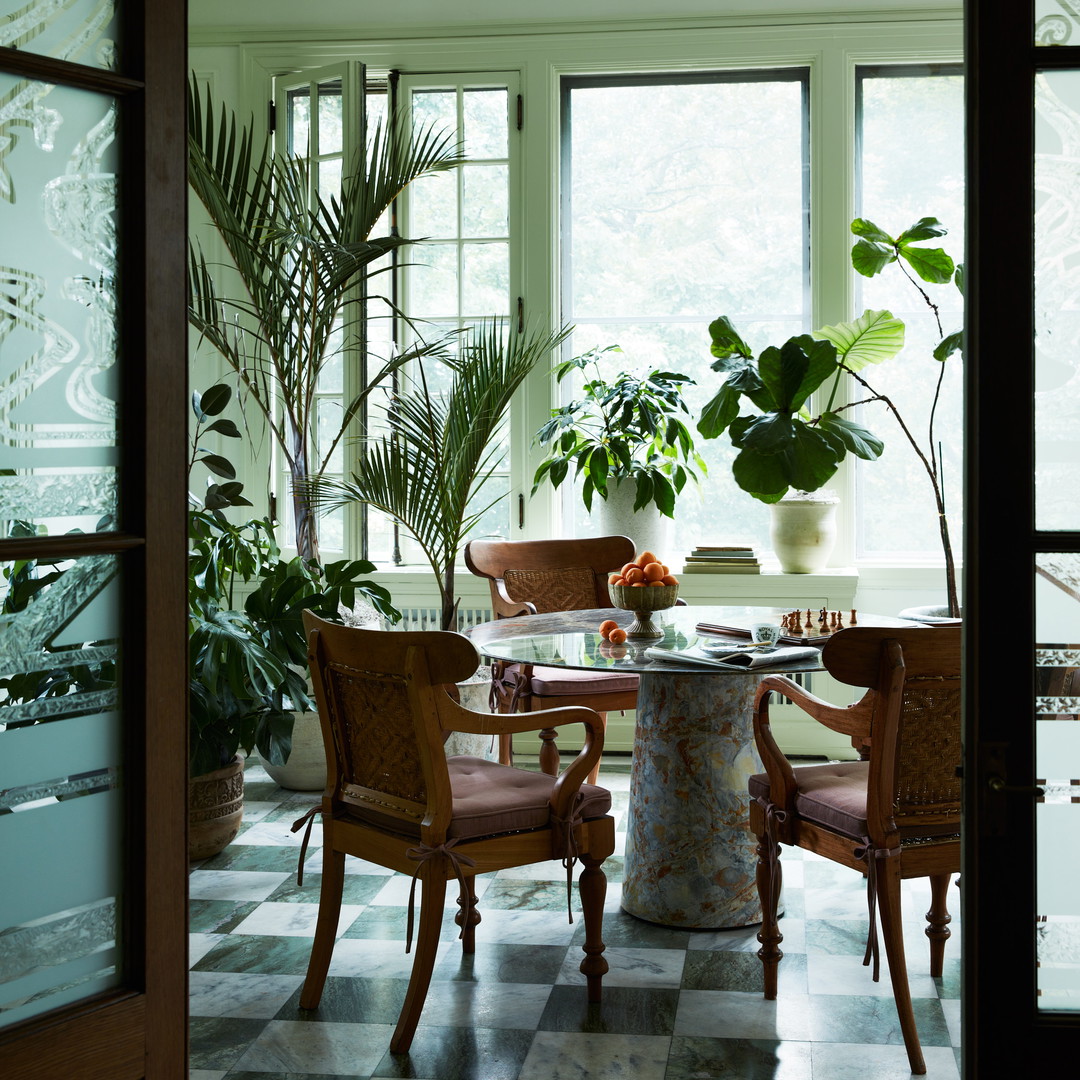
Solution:
[[(912, 69), (860, 72), (860, 216), (899, 235), (919, 218), (935, 217), (947, 235), (922, 243), (963, 258), (963, 79), (959, 75), (912, 73)], [(907, 133), (917, 129), (918, 139)], [(854, 243), (854, 238), (851, 238)], [(961, 328), (963, 297), (954, 285), (924, 285), (941, 311), (942, 328), (899, 266), (876, 278), (856, 278), (865, 308), (886, 309), (906, 324), (897, 356), (864, 370), (878, 393), (896, 405), (929, 459), (934, 394), (933, 451), (943, 457), (945, 505), (954, 551), (962, 529), (963, 367), (959, 353), (943, 365), (933, 350), (945, 334)], [(942, 378), (943, 377), (943, 378)], [(939, 383), (939, 379), (942, 381)], [(859, 388), (853, 394), (865, 396)], [(943, 559), (933, 485), (910, 443), (875, 403), (860, 420), (886, 444), (877, 461), (855, 460), (856, 554), (860, 557)], [(897, 492), (901, 497), (897, 498)]]

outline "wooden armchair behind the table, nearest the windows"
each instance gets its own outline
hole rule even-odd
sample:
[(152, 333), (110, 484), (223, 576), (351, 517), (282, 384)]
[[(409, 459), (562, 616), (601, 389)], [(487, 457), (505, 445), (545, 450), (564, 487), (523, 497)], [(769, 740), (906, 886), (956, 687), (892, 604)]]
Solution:
[[(608, 575), (634, 558), (629, 537), (583, 540), (473, 540), (465, 545), (465, 566), (486, 578), (497, 619), (545, 611), (581, 611), (611, 607)], [(611, 672), (570, 671), (496, 661), (491, 665), (491, 705), (500, 713), (535, 712), (558, 705), (595, 708), (607, 721), (612, 710), (637, 705), (637, 676)], [(558, 771), (555, 732), (540, 732), (540, 768)], [(509, 734), (499, 739), (499, 760), (510, 765)], [(595, 773), (590, 778), (595, 781)]]

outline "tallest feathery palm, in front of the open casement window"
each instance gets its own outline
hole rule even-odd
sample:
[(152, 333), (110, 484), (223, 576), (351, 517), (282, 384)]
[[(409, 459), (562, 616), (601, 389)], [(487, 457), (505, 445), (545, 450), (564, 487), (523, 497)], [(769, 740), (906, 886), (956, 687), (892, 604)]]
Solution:
[(366, 318), (360, 286), (374, 264), (409, 243), (374, 235), (384, 212), (414, 180), (454, 168), (462, 157), (453, 134), (429, 126), (406, 139), (379, 125), (363, 160), (342, 171), (340, 194), (323, 199), (306, 161), (275, 154), (269, 138), (259, 144), (253, 124), (225, 109), (218, 116), (194, 81), (189, 95), (188, 180), (230, 265), (219, 267), (191, 244), (188, 319), (235, 373), (245, 404), (261, 414), (292, 481), (296, 550), (318, 559), (318, 525), (298, 482), (323, 475), (372, 389), (437, 342), (368, 372), (336, 430), (322, 418), (315, 455), (320, 377), (342, 324), (348, 332)]

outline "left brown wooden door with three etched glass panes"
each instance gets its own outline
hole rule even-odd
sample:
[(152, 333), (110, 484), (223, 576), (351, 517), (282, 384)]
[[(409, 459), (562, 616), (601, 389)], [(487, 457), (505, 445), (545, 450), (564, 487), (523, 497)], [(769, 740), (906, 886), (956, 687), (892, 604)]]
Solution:
[(186, 4), (0, 0), (0, 1076), (187, 1076)]

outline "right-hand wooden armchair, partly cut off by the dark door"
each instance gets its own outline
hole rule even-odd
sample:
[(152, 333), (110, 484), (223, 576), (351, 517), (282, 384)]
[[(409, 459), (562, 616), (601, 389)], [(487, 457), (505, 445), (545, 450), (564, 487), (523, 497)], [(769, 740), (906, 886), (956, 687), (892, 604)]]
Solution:
[[(912, 1011), (900, 882), (929, 877), (930, 973), (941, 975), (949, 937), (948, 883), (960, 870), (960, 630), (852, 627), (822, 650), (829, 674), (867, 687), (839, 708), (789, 678), (770, 675), (757, 691), (754, 738), (766, 772), (750, 780), (750, 823), (758, 840), (762, 922), (758, 956), (765, 996), (777, 996), (783, 941), (777, 919), (780, 846), (797, 845), (866, 875), (869, 941), (864, 963), (878, 978), (876, 916), (912, 1071), (927, 1071)], [(769, 725), (772, 692), (820, 724), (868, 741), (868, 760), (793, 769)]]

